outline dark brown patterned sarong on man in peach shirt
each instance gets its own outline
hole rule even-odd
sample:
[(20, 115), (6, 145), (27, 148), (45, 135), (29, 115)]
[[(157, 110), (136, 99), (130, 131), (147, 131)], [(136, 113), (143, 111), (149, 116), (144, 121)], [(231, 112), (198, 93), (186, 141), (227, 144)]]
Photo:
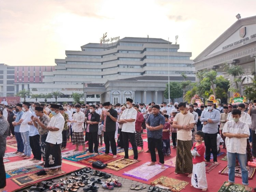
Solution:
[(177, 140), (177, 153), (176, 153), (176, 173), (192, 173), (193, 163), (192, 154), (190, 152), (192, 148), (192, 141)]

